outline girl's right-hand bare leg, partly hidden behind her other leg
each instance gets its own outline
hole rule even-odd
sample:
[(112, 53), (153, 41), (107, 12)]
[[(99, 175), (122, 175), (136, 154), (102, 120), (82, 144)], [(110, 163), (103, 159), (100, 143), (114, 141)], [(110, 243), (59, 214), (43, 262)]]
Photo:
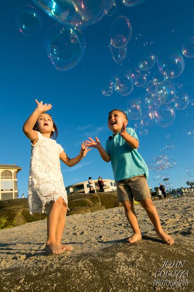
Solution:
[(65, 203), (63, 204), (63, 207), (61, 209), (61, 212), (59, 214), (59, 221), (57, 224), (57, 230), (56, 230), (56, 242), (65, 250), (71, 251), (73, 247), (71, 245), (67, 244), (61, 244), (61, 238), (63, 235), (64, 227), (65, 227), (65, 221), (66, 221), (66, 213), (67, 213), (67, 207)]

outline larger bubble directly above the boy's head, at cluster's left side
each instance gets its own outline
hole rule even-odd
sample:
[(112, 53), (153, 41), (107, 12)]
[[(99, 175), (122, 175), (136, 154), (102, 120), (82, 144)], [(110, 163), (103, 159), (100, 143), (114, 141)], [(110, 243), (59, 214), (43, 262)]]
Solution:
[(121, 71), (117, 74), (117, 78), (114, 86), (115, 91), (123, 96), (129, 95), (133, 90), (133, 80), (130, 77), (130, 72), (128, 70)]

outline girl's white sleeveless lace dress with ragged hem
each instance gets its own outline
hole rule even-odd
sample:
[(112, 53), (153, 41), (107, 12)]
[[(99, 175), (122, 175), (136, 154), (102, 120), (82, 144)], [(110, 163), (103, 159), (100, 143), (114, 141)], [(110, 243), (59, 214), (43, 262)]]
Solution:
[(64, 150), (55, 140), (38, 132), (38, 141), (31, 143), (31, 162), (28, 182), (30, 214), (49, 213), (51, 201), (62, 197), (67, 205), (67, 193), (60, 165)]

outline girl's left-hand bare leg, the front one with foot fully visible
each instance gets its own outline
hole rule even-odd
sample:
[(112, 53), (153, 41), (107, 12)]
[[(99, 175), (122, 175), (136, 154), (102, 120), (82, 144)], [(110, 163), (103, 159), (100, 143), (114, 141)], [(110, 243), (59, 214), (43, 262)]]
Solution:
[(56, 242), (56, 231), (59, 222), (59, 215), (63, 208), (64, 199), (60, 197), (56, 202), (52, 203), (47, 220), (47, 244), (45, 250), (48, 254), (61, 254), (65, 249)]

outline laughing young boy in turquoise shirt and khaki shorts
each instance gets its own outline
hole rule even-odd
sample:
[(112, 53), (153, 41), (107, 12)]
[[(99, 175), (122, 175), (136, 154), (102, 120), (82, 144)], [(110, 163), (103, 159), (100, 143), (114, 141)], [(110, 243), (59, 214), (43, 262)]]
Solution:
[(112, 110), (109, 112), (108, 127), (113, 134), (106, 141), (106, 148), (101, 146), (97, 137), (96, 141), (89, 137), (90, 141), (86, 141), (87, 146), (97, 148), (104, 161), (111, 161), (118, 201), (123, 202), (126, 217), (133, 230), (128, 242), (133, 243), (142, 238), (133, 207), (134, 198), (135, 201), (140, 201), (146, 210), (157, 235), (164, 243), (172, 245), (174, 239), (163, 231), (157, 210), (151, 200), (146, 180), (148, 168), (137, 151), (138, 137), (132, 128), (126, 128), (127, 124), (128, 118), (123, 111)]

